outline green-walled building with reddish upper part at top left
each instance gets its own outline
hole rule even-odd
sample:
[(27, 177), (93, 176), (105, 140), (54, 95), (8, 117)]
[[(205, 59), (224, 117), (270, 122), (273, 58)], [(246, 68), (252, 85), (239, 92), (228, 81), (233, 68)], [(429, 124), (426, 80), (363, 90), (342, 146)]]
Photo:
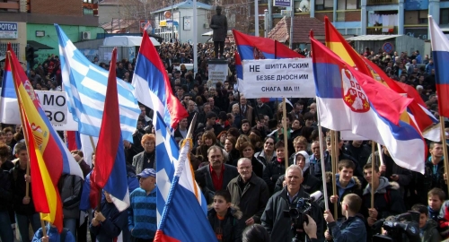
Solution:
[[(98, 28), (97, 4), (93, 0), (20, 0), (0, 2), (0, 28), (16, 26), (17, 30), (0, 33), (0, 56), (5, 54), (6, 44), (11, 42), (21, 61), (25, 60), (27, 45), (40, 47), (38, 60), (48, 55), (59, 55), (58, 23), (74, 42), (96, 39)], [(3, 29), (2, 29), (3, 30)], [(14, 33), (14, 31), (16, 33)], [(89, 38), (88, 38), (89, 37)]]

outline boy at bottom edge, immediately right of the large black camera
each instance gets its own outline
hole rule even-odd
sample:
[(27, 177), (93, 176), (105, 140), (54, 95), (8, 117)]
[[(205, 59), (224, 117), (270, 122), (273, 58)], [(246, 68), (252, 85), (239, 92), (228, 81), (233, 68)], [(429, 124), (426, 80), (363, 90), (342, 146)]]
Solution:
[(422, 242), (441, 241), (438, 233), (438, 224), (435, 220), (429, 219), (428, 209), (423, 204), (415, 204), (411, 207), (412, 211), (419, 212), (419, 237)]

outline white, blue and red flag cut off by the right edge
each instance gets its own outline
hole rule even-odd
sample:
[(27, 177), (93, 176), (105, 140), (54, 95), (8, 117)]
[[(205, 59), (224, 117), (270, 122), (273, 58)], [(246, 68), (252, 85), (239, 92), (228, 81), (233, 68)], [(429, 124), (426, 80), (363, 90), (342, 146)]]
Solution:
[(434, 56), (436, 93), (438, 95), (438, 110), (440, 116), (449, 117), (449, 40), (440, 30), (432, 16), (428, 16), (432, 55)]

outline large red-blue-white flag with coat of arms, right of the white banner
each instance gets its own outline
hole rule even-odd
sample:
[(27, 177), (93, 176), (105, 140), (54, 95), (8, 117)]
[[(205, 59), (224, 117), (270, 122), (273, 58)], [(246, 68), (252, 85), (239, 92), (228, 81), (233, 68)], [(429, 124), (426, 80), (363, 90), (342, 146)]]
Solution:
[(381, 143), (396, 164), (424, 173), (422, 136), (400, 120), (411, 99), (357, 72), (316, 39), (311, 41), (321, 125)]

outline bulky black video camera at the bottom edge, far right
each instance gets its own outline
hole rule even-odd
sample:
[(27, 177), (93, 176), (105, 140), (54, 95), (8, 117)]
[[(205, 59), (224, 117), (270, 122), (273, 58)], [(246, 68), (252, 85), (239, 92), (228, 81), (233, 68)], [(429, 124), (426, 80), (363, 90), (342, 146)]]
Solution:
[(383, 228), (387, 235), (375, 235), (373, 242), (383, 241), (404, 241), (418, 242), (419, 238), (419, 212), (409, 211), (401, 213), (391, 220), (378, 220), (374, 223), (373, 229)]

